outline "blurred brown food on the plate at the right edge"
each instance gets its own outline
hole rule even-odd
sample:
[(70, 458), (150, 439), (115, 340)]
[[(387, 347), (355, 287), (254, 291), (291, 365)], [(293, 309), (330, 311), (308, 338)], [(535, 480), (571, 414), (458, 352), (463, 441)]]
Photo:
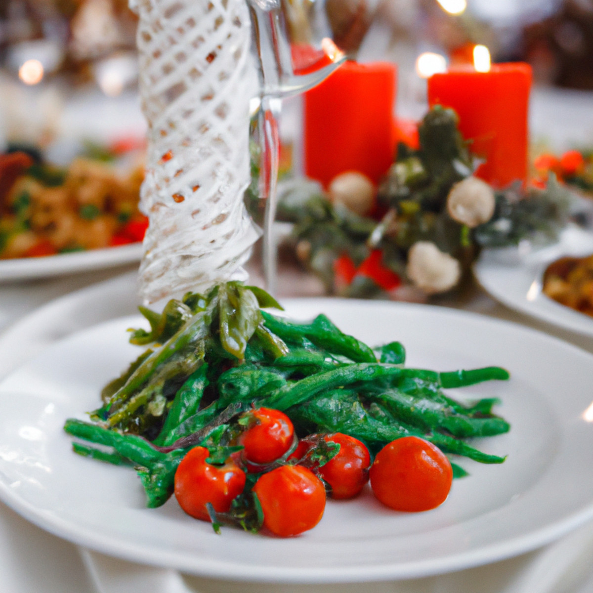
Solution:
[(544, 272), (542, 291), (566, 307), (593, 317), (593, 255), (561, 257)]

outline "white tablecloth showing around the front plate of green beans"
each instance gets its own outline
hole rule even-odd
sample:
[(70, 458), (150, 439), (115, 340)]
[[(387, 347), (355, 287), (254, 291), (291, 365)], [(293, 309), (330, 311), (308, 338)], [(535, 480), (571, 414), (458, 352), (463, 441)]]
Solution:
[[(37, 307), (62, 295), (102, 280), (115, 278), (122, 273), (133, 273), (137, 266), (123, 266), (100, 272), (13, 282), (0, 285), (0, 335), (12, 323)], [(250, 269), (251, 282), (262, 284), (257, 266)], [(278, 297), (307, 297), (323, 295), (323, 287), (311, 276), (304, 275), (291, 266), (282, 266), (278, 275)], [(433, 304), (473, 311), (490, 317), (514, 321), (544, 331), (573, 343), (593, 353), (593, 339), (578, 336), (550, 324), (515, 313), (489, 297), (474, 280), (468, 280), (454, 295), (435, 299)], [(1, 368), (1, 366), (0, 366)], [(555, 546), (555, 547), (554, 547)], [(560, 546), (560, 547), (558, 547)], [(3, 593), (124, 593), (141, 590), (144, 593), (545, 593), (557, 591), (524, 587), (525, 579), (540, 578), (542, 566), (547, 566), (549, 556), (554, 559), (565, 550), (565, 565), (572, 562), (575, 550), (593, 554), (593, 533), (590, 528), (552, 544), (551, 549), (537, 550), (504, 562), (476, 569), (465, 570), (438, 577), (416, 579), (397, 583), (358, 585), (247, 585), (211, 579), (178, 575), (164, 569), (148, 569), (102, 554), (81, 550), (74, 545), (47, 534), (20, 518), (11, 509), (0, 505), (0, 591)], [(579, 558), (582, 557), (579, 556)], [(582, 558), (581, 558), (582, 559)], [(570, 562), (569, 562), (570, 561)], [(576, 560), (575, 560), (576, 562)], [(568, 563), (568, 564), (567, 564)], [(570, 565), (574, 568), (572, 565)], [(539, 572), (537, 572), (538, 569)], [(560, 569), (558, 569), (560, 570)], [(575, 569), (576, 570), (576, 569)], [(534, 573), (535, 571), (535, 573)], [(546, 568), (545, 573), (550, 573)], [(573, 570), (573, 573), (575, 571)], [(535, 574), (535, 576), (534, 576)], [(568, 593), (585, 593), (593, 590), (593, 580), (588, 570), (581, 569), (579, 579), (572, 588), (563, 587)], [(573, 579), (574, 580), (574, 579)], [(534, 581), (534, 582), (535, 582)], [(539, 581), (537, 581), (539, 582)], [(565, 581), (563, 581), (565, 582)], [(565, 582), (566, 585), (566, 582)], [(568, 584), (570, 585), (570, 584)], [(567, 586), (568, 586), (567, 585)]]

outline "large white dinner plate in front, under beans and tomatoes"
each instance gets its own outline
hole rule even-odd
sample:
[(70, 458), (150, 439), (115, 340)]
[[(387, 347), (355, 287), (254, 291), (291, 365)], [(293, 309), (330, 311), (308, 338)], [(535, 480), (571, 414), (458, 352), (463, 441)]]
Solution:
[(174, 499), (144, 506), (135, 473), (71, 451), (67, 417), (84, 418), (100, 388), (138, 354), (126, 329), (107, 321), (56, 342), (0, 383), (0, 498), (25, 518), (111, 556), (187, 573), (267, 582), (356, 582), (415, 578), (502, 560), (549, 543), (593, 517), (593, 356), (514, 324), (426, 305), (374, 301), (286, 301), (291, 317), (324, 311), (366, 342), (399, 339), (409, 364), (438, 370), (502, 365), (508, 382), (456, 397), (499, 396), (511, 432), (480, 439), (508, 455), (484, 466), (465, 459), (433, 511), (401, 514), (367, 489), (329, 501), (320, 524), (279, 539), (225, 528), (213, 533)]

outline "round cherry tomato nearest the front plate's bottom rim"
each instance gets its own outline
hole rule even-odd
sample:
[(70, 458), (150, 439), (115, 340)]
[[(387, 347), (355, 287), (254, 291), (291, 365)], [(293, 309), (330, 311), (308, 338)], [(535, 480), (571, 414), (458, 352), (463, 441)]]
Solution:
[(302, 466), (280, 466), (263, 474), (253, 491), (262, 505), (264, 527), (280, 537), (313, 529), (326, 508), (323, 483)]

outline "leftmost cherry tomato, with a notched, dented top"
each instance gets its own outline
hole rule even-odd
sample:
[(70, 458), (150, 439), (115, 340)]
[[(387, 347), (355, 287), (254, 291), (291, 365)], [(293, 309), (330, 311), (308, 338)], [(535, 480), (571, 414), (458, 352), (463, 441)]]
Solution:
[(196, 519), (209, 521), (206, 503), (215, 511), (227, 512), (232, 500), (243, 492), (246, 474), (228, 461), (224, 466), (206, 462), (209, 451), (195, 447), (187, 452), (175, 473), (175, 497), (181, 508)]

